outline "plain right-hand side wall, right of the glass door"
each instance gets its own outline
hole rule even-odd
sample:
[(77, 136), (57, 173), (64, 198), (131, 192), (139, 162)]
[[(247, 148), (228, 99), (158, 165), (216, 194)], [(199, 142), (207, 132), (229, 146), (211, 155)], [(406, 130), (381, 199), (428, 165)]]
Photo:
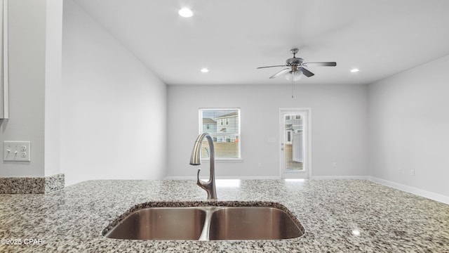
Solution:
[(448, 69), (445, 56), (368, 86), (371, 176), (449, 196)]

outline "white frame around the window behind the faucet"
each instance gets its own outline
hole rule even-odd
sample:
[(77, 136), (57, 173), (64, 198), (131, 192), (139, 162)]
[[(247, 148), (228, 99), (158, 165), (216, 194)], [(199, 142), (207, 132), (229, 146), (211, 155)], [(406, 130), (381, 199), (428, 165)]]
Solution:
[[(237, 134), (236, 134), (236, 136), (239, 138), (239, 141), (237, 142), (239, 145), (238, 157), (217, 157), (217, 153), (216, 153), (216, 149), (215, 149), (215, 161), (241, 162), (242, 157), (241, 157), (241, 110), (240, 110), (240, 108), (198, 108), (198, 131), (199, 131), (199, 134), (204, 133), (204, 131), (203, 131), (203, 111), (227, 111), (227, 110), (237, 111), (237, 114), (238, 114), (238, 117), (237, 117), (238, 129), (237, 129)], [(223, 120), (225, 120), (225, 119), (220, 119), (220, 122), (224, 123)], [(217, 121), (217, 125), (218, 124), (220, 124), (220, 123)], [(219, 133), (210, 133), (209, 131), (207, 131), (207, 132), (208, 132), (208, 134), (210, 134), (210, 136), (212, 136), (213, 139), (214, 139), (214, 137), (217, 137), (216, 134), (219, 134)], [(215, 140), (216, 139), (217, 138), (215, 138)], [(214, 141), (214, 145), (215, 145), (215, 143), (217, 143), (217, 141)], [(209, 160), (209, 157), (201, 157), (201, 160)]]

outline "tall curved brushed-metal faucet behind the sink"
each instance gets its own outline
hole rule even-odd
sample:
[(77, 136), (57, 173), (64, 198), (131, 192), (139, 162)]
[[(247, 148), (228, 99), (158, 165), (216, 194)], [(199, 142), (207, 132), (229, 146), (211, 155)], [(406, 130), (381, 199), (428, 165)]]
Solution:
[(201, 143), (203, 142), (204, 138), (208, 139), (210, 149), (210, 178), (206, 182), (199, 180), (199, 172), (201, 171), (201, 169), (198, 169), (198, 173), (196, 174), (196, 184), (206, 190), (206, 193), (208, 193), (208, 200), (216, 200), (217, 190), (215, 190), (215, 150), (213, 148), (213, 140), (212, 137), (210, 137), (210, 134), (200, 134), (198, 138), (196, 138), (194, 149), (192, 150), (192, 156), (190, 157), (190, 165), (201, 164)]

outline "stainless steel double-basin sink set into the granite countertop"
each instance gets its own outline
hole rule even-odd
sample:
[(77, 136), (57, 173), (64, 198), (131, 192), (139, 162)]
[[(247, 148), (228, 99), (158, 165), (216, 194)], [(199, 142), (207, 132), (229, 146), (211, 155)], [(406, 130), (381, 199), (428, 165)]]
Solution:
[(281, 240), (304, 235), (295, 216), (272, 202), (147, 204), (123, 214), (102, 235), (128, 240)]

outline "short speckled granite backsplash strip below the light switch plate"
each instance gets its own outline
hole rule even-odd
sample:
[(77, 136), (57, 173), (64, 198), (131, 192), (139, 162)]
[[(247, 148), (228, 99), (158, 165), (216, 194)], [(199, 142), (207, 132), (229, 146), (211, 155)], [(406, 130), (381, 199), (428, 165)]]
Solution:
[(64, 188), (64, 174), (46, 177), (0, 177), (0, 194), (43, 194)]

